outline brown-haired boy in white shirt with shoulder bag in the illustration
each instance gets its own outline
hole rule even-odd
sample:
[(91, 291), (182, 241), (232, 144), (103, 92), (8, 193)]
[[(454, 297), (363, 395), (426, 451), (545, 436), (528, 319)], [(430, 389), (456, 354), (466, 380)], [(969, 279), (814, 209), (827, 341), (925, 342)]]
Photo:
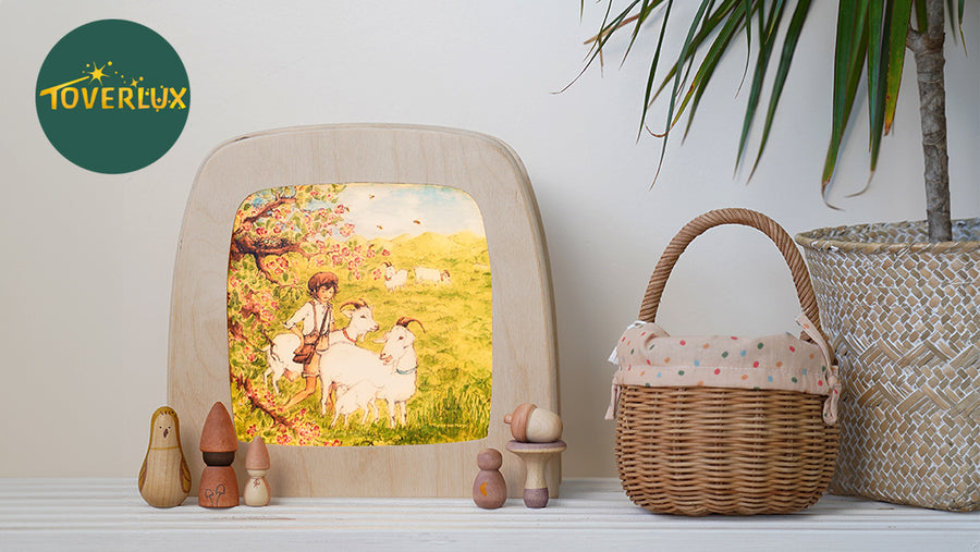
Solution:
[(297, 355), (294, 359), (301, 361), (298, 357), (313, 349), (311, 354), (304, 355), (305, 358), (302, 359), (306, 387), (285, 404), (286, 409), (296, 406), (317, 391), (317, 381), (320, 379), (320, 355), (330, 346), (328, 334), (334, 329), (333, 304), (330, 300), (336, 295), (338, 283), (336, 274), (333, 272), (317, 272), (311, 275), (306, 286), (313, 298), (285, 322), (286, 329), (302, 340), (294, 351)]

